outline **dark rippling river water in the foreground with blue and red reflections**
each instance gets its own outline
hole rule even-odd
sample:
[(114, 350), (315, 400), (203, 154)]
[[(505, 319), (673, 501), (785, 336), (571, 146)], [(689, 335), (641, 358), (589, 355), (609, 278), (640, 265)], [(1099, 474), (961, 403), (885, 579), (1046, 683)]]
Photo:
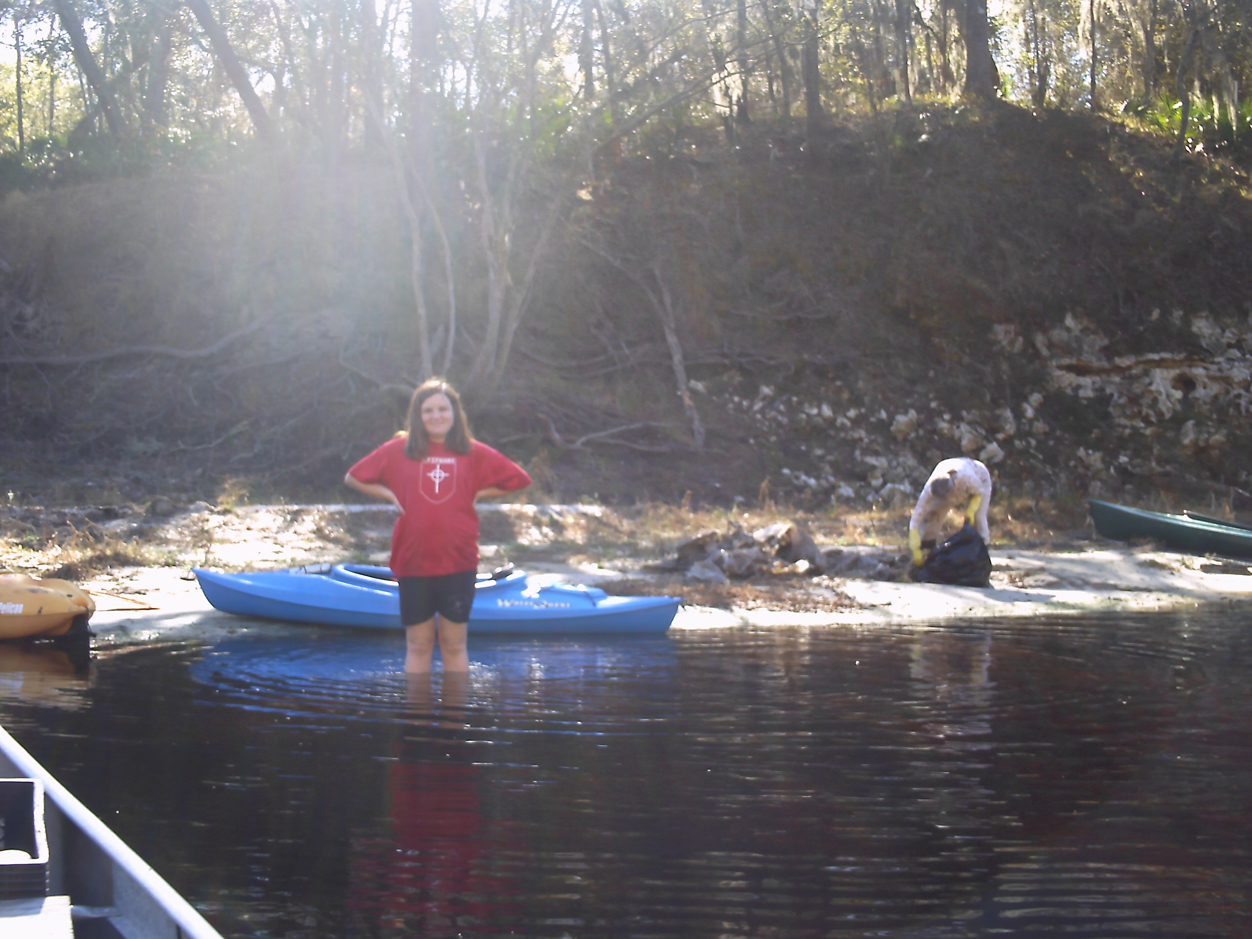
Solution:
[(227, 936), (1252, 936), (1246, 613), (0, 656)]

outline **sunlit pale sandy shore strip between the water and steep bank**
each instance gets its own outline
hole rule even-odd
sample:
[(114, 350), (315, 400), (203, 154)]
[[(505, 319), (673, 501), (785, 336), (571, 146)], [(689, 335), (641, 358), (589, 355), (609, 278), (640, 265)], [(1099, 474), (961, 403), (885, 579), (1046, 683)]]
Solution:
[[(825, 571), (771, 560), (745, 578), (715, 582), (681, 571), (659, 571), (666, 556), (707, 518), (680, 512), (629, 517), (593, 505), (482, 506), (483, 561), (516, 563), (537, 576), (597, 583), (610, 592), (670, 593), (685, 605), (675, 629), (925, 623), (948, 618), (1054, 616), (1058, 613), (1178, 610), (1252, 600), (1247, 565), (1070, 538), (993, 546), (995, 570), (987, 590), (910, 583), (901, 548), (889, 536), (895, 518), (810, 520)], [(78, 566), (98, 593), (96, 645), (160, 637), (189, 639), (223, 630), (263, 629), (217, 613), (190, 575), (193, 566), (260, 570), (354, 560), (384, 563), (393, 513), (381, 506), (243, 506), (207, 503), (165, 518), (148, 515), (95, 522), (118, 543), (141, 528), (144, 563), (104, 563), (58, 548), (49, 553), (9, 538), (0, 566), (50, 571)], [(715, 520), (716, 521), (716, 520)], [(745, 531), (777, 518), (727, 515)], [(125, 561), (124, 556), (119, 560)], [(91, 570), (93, 563), (105, 570)], [(66, 572), (63, 570), (63, 572)], [(146, 608), (145, 608), (146, 607)]]

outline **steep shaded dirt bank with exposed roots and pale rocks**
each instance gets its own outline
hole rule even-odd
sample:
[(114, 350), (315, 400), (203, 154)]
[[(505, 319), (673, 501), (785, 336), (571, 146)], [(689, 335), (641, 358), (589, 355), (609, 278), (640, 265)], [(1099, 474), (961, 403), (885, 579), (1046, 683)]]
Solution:
[[(762, 123), (580, 197), (500, 386), (463, 388), (531, 497), (864, 511), (967, 453), (1014, 515), (1252, 510), (1246, 168), (1098, 115), (883, 120), (804, 151)], [(416, 383), (389, 178), (279, 160), (0, 204), (0, 497), (333, 500)], [(458, 284), (454, 382), (482, 289)]]

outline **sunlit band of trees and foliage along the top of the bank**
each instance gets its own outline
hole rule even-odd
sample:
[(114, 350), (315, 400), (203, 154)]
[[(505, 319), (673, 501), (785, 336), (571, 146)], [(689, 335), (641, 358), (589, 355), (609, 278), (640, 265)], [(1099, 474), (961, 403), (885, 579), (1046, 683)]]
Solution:
[[(1237, 0), (21, 0), (0, 139), (95, 135), (203, 159), (283, 136), (332, 155), (522, 146), (587, 159), (655, 125), (727, 134), (916, 96), (1004, 96), (1247, 129)], [(424, 144), (422, 141), (426, 141)], [(459, 140), (459, 143), (453, 143)], [(432, 150), (432, 159), (434, 153)]]

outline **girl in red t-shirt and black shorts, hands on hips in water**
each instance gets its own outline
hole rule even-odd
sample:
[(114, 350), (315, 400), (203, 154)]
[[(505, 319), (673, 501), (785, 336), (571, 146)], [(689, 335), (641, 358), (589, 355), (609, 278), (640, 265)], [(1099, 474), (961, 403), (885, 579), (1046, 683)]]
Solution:
[(439, 639), (443, 670), (468, 671), (466, 621), (478, 576), (480, 498), (531, 485), (525, 470), (470, 432), (461, 397), (442, 378), (423, 382), (406, 431), (356, 463), (343, 481), (399, 510), (391, 568), (407, 636), (404, 671), (431, 671)]

